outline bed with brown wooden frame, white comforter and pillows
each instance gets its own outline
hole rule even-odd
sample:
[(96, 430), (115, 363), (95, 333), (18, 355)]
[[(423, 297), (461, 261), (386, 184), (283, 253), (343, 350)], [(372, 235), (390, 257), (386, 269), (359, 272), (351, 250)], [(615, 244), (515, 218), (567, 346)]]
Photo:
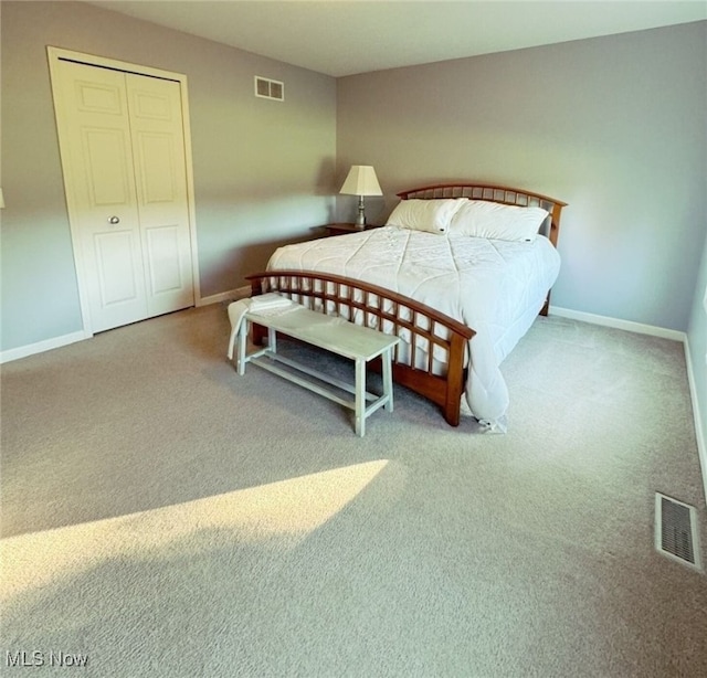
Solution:
[[(398, 193), (386, 225), (286, 245), (249, 276), (277, 292), (401, 338), (393, 378), (442, 407), (505, 432), (503, 360), (547, 315), (566, 203), (483, 183)], [(261, 335), (254, 328), (254, 339)]]

